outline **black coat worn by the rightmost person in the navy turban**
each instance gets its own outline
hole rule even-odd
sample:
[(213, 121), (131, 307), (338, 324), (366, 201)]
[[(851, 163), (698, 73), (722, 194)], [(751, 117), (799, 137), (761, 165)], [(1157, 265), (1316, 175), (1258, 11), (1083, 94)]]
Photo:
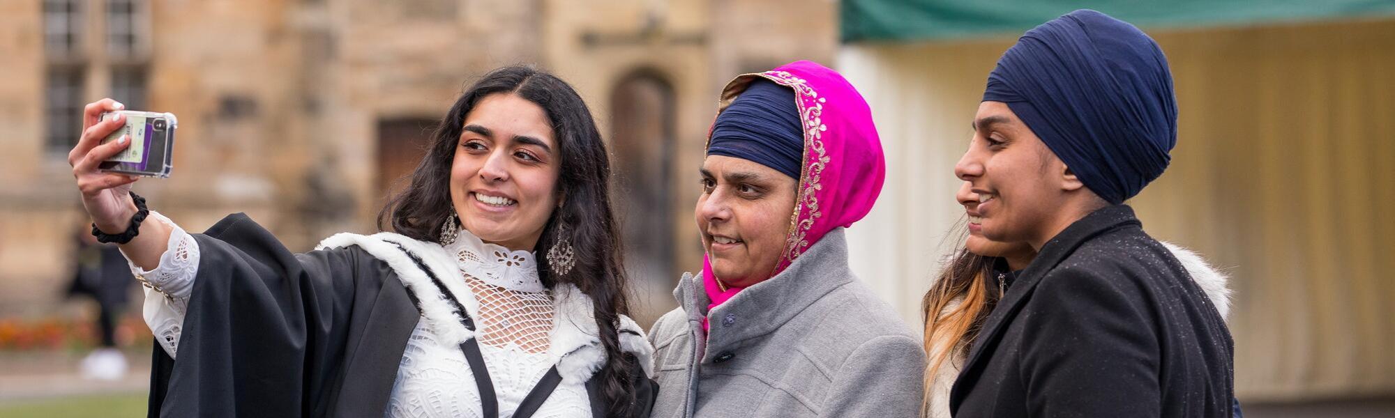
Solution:
[(1230, 417), (1221, 314), (1131, 208), (1042, 247), (988, 316), (950, 392), (954, 417)]

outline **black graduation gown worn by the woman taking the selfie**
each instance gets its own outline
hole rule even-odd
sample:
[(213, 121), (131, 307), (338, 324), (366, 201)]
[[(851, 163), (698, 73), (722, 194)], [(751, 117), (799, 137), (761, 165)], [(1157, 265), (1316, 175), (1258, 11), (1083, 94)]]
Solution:
[[(179, 361), (153, 348), (149, 417), (382, 417), (421, 315), (386, 262), (359, 247), (292, 254), (243, 213), (194, 240)], [(635, 371), (647, 415), (657, 387)], [(604, 417), (598, 383), (586, 386)]]

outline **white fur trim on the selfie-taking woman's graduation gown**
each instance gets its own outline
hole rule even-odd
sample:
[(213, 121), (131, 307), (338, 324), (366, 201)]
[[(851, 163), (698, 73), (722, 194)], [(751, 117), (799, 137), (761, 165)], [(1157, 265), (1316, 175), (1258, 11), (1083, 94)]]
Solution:
[[(423, 242), (393, 233), (372, 235), (343, 233), (325, 238), (317, 249), (359, 245), (374, 258), (386, 262), (398, 273), (402, 284), (417, 297), (427, 327), (444, 343), (456, 346), (473, 339), (474, 332), (460, 323), (456, 309), (451, 307), (446, 295), (395, 244), (400, 244), (402, 248), (420, 258), (441, 280), (446, 291), (460, 301), (466, 312), (477, 318), (478, 302), (474, 293), (465, 284), (465, 277), (460, 274), (460, 266), (455, 258), (439, 244)], [(557, 364), (557, 371), (564, 382), (586, 382), (605, 364), (605, 350), (600, 341), (591, 300), (573, 284), (558, 284), (552, 290), (554, 315), (552, 330), (548, 333), (548, 357)], [(622, 315), (619, 332), (621, 350), (633, 354), (644, 373), (651, 376), (654, 348), (644, 339), (643, 329)]]

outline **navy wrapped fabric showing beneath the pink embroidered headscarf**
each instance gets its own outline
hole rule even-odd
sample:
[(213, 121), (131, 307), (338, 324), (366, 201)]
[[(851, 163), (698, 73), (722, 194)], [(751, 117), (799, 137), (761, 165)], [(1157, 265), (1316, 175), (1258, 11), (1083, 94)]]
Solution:
[(717, 114), (707, 155), (752, 160), (799, 180), (804, 125), (794, 91), (769, 79), (752, 81)]

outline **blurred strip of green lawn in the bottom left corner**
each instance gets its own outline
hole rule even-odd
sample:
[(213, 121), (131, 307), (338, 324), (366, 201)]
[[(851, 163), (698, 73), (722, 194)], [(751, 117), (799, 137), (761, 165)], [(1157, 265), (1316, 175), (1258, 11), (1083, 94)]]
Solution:
[(98, 394), (0, 403), (0, 418), (137, 418), (145, 417), (144, 393)]

